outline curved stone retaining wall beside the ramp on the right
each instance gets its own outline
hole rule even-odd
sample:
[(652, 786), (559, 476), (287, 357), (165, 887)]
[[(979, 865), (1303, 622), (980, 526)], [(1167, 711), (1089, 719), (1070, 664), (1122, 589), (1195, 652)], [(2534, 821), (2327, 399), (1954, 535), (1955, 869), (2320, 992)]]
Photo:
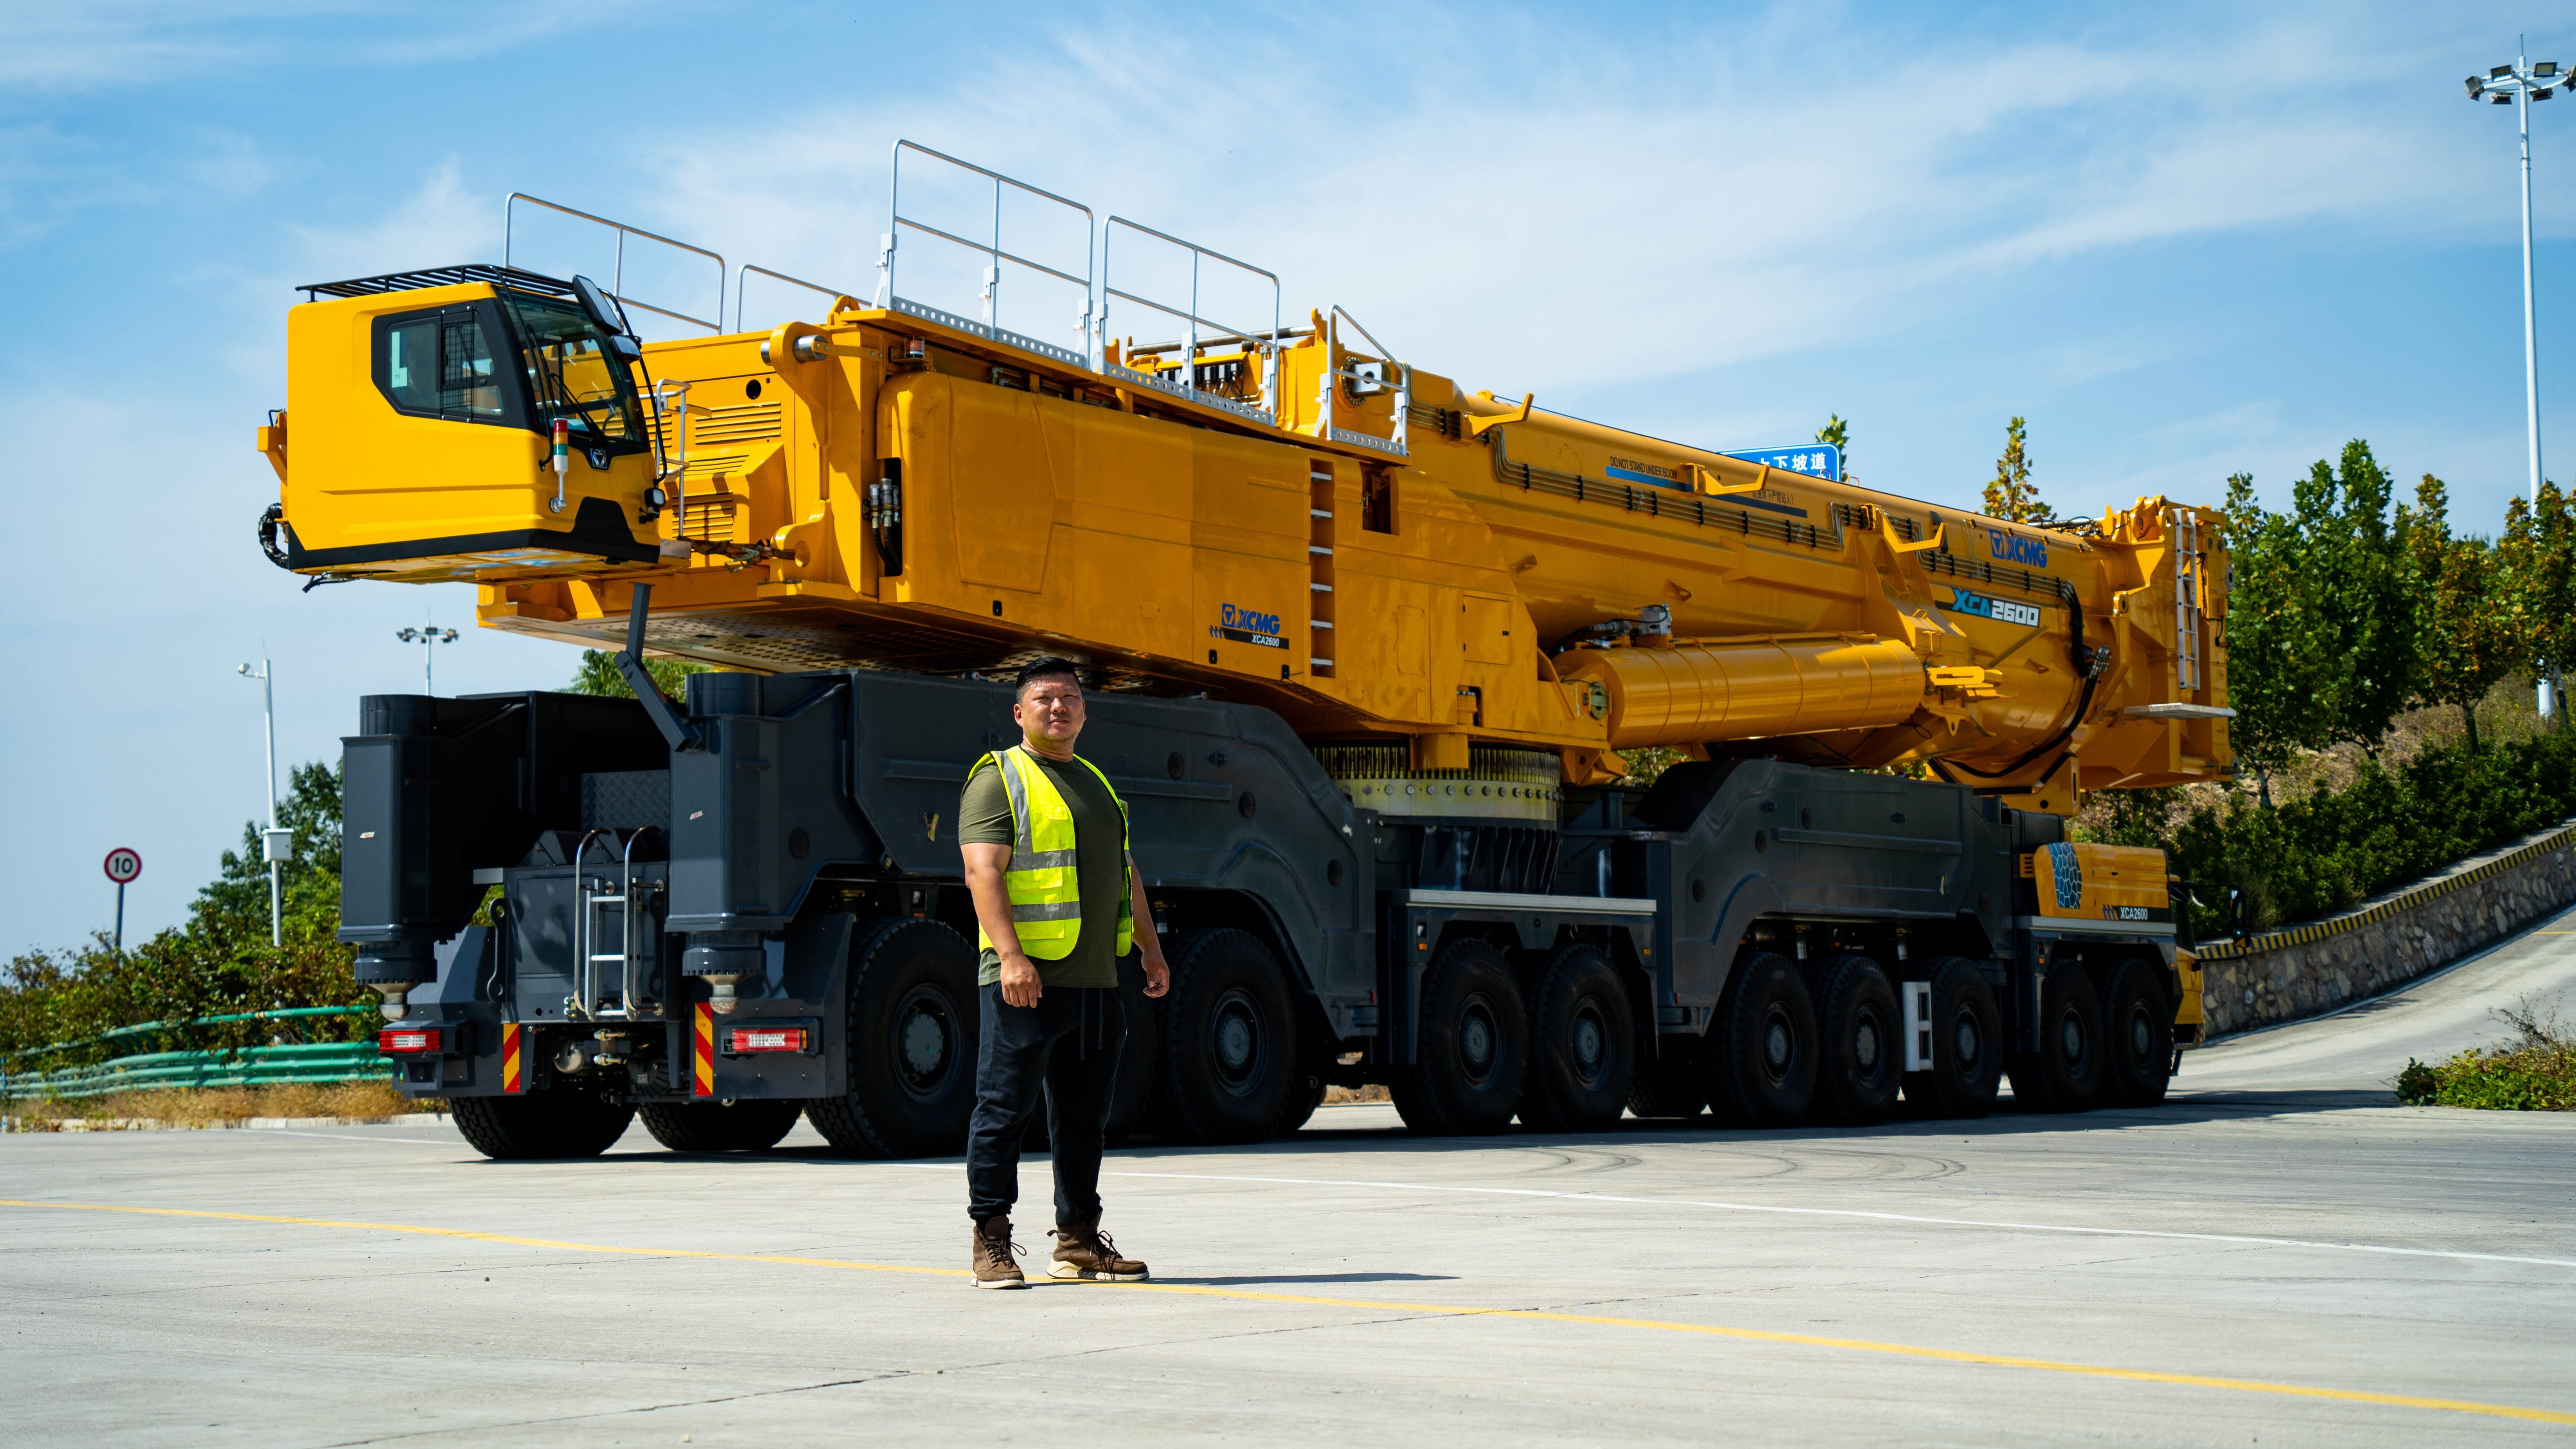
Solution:
[(2576, 902), (2576, 822), (2290, 931), (2202, 946), (2208, 1034), (2318, 1016)]

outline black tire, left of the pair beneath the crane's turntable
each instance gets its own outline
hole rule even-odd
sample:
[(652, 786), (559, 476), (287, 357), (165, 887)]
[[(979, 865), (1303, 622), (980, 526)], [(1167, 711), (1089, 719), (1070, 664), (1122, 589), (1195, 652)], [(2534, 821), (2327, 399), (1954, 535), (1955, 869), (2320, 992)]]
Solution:
[(1455, 941), (1422, 972), (1422, 1034), (1414, 1065), (1386, 1093), (1414, 1132), (1484, 1137), (1520, 1111), (1530, 1080), (1530, 1013), (1502, 951)]

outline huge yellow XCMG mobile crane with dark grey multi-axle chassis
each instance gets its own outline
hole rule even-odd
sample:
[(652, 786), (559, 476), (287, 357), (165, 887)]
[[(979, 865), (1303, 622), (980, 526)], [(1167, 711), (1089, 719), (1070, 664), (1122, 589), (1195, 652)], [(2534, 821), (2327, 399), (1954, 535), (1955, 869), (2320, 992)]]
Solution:
[[(907, 168), (989, 183), (989, 240), (909, 214)], [(1005, 199), (1077, 211), (1100, 268), (1012, 250)], [(979, 253), (979, 315), (902, 294), (899, 245)], [(1139, 248), (1190, 291), (1139, 291)], [(507, 255), (309, 286), (260, 431), (278, 565), (626, 645), (636, 706), (376, 696), (350, 740), (343, 938), (389, 1016), (464, 1026), (404, 1080), (497, 1114), (487, 1150), (562, 1145), (598, 1083), (667, 1140), (799, 1104), (850, 1150), (948, 1150), (971, 954), (938, 820), (997, 709), (951, 681), (1036, 655), (1095, 673), (1121, 789), (1172, 802), (1139, 861), (1185, 969), (1131, 1104), (1164, 1132), (1260, 1134), (1327, 1080), (1388, 1080), (1430, 1129), (1868, 1122), (1899, 1083), (1984, 1111), (2007, 1057), (2050, 1106), (2154, 1101), (2197, 1036), (2161, 856), (2061, 817), (2228, 771), (2213, 511), (2035, 529), (1821, 449), (1466, 392), (1340, 307), (1280, 325), (1260, 268), (909, 142), (868, 302), (742, 268), (724, 330), (724, 260), (685, 250), (716, 320), (667, 343), (616, 281)], [(1074, 348), (1002, 325), (1007, 271), (1079, 291)], [(822, 322), (742, 330), (752, 273)], [(1208, 315), (1203, 273), (1270, 315)], [(1177, 340), (1113, 335), (1126, 312)], [(647, 652), (729, 673), (675, 706)], [(1628, 789), (1638, 748), (1685, 763)], [(469, 941), (474, 882), (526, 926)], [(868, 995), (886, 938), (938, 1006)], [(714, 1018), (755, 1000), (819, 1065), (726, 1049)], [(884, 1127), (904, 1093), (912, 1134)]]

